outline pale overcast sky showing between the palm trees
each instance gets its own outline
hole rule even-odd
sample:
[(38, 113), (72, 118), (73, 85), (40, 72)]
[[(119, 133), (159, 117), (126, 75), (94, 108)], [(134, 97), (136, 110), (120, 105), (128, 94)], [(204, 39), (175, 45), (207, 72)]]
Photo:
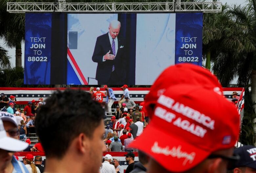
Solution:
[[(211, 0), (209, 0), (211, 1)], [(245, 5), (246, 0), (220, 0), (223, 4), (227, 3), (228, 5), (231, 4), (241, 4)], [(3, 46), (9, 52), (9, 56), (11, 56), (11, 63), (15, 66), (15, 49), (9, 49), (5, 47), (3, 40), (0, 39), (0, 45)], [(24, 67), (24, 44), (22, 44), (22, 66)]]

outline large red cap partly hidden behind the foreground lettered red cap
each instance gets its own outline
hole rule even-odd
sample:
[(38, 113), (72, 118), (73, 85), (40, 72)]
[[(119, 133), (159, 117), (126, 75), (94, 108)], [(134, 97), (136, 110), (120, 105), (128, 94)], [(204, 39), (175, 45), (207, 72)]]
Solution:
[[(179, 74), (179, 75), (177, 75)], [(145, 98), (145, 109), (151, 117), (157, 100), (168, 87), (179, 84), (201, 85), (206, 88), (216, 88), (222, 93), (222, 86), (217, 77), (209, 70), (198, 65), (182, 63), (166, 68), (156, 79)], [(176, 91), (174, 91), (176, 92)]]

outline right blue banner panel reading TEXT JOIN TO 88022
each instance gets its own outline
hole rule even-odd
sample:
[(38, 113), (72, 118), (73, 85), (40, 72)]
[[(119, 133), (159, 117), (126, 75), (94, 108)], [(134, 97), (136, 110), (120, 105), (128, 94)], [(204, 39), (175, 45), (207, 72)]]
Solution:
[(177, 13), (175, 64), (202, 66), (203, 13)]

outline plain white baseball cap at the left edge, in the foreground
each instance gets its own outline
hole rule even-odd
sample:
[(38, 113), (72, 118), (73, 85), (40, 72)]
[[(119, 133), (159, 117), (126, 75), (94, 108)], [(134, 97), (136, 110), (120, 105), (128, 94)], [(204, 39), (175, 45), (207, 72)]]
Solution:
[[(6, 112), (0, 112), (0, 114), (3, 114), (3, 113), (6, 113)], [(10, 113), (7, 113), (7, 114), (10, 114)], [(4, 124), (1, 118), (0, 119), (0, 149), (4, 149), (7, 151), (22, 151), (26, 149), (28, 146), (29, 144), (26, 142), (22, 142), (18, 139), (14, 139), (7, 136), (6, 131), (4, 129)]]

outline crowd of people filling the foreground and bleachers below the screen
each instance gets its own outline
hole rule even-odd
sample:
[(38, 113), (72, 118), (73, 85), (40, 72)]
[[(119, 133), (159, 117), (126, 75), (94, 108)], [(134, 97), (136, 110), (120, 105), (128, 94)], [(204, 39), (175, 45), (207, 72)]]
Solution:
[[(29, 102), (26, 110), (31, 109), (36, 118), (17, 114), (22, 118), (20, 124), (18, 110), (15, 116), (14, 111), (0, 112), (0, 173), (41, 171), (36, 168), (42, 164), (39, 156), (26, 155), (23, 163), (13, 156), (14, 151), (29, 146), (19, 132), (25, 137), (32, 128), (40, 140), (37, 150), (45, 151), (47, 173), (124, 172), (112, 152), (102, 160), (105, 151), (126, 151), (126, 173), (256, 171), (255, 147), (234, 150), (240, 131), (237, 108), (223, 97), (218, 79), (202, 67), (185, 63), (168, 67), (140, 105), (129, 98), (124, 85), (113, 112), (113, 89), (103, 88), (105, 93), (100, 88), (96, 92), (92, 88), (90, 93), (56, 91), (41, 106), (32, 107)], [(106, 104), (102, 103), (104, 97)], [(1, 103), (8, 104), (4, 99)], [(104, 128), (106, 112), (112, 117)]]

